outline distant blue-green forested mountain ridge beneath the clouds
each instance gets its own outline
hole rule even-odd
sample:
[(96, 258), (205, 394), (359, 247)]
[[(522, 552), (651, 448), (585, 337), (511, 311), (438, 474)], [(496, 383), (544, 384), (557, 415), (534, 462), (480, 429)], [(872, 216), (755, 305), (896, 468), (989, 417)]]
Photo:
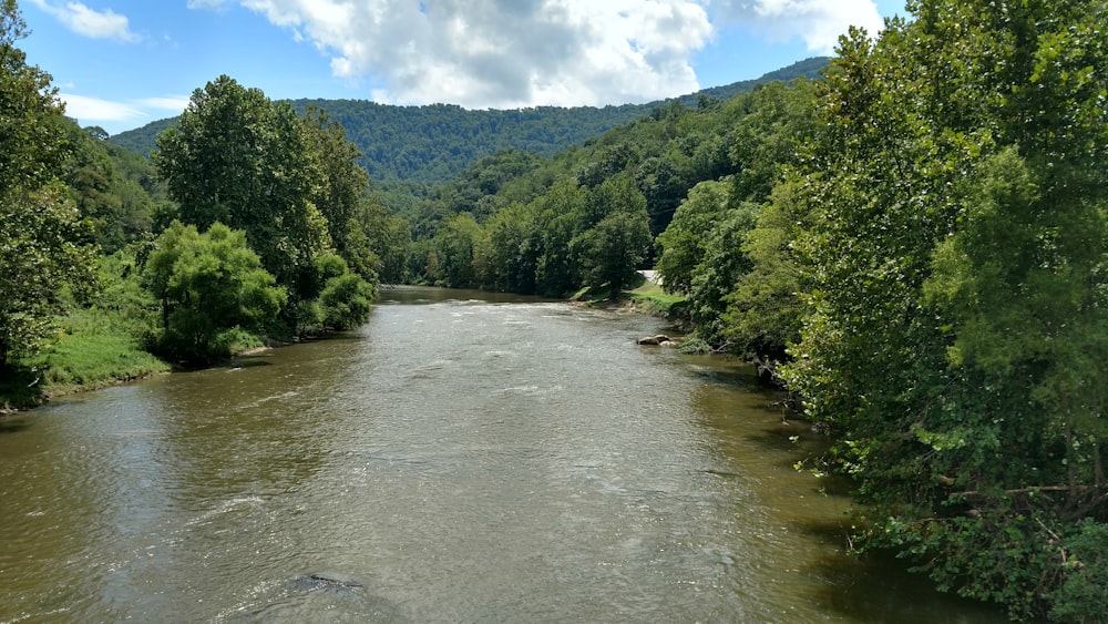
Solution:
[[(827, 57), (808, 59), (757, 80), (714, 86), (678, 98), (683, 104), (727, 100), (766, 82), (815, 78)], [(360, 164), (377, 182), (438, 183), (452, 180), (482, 157), (514, 147), (553, 156), (608, 130), (650, 114), (673, 100), (622, 106), (540, 106), (517, 110), (470, 111), (452, 104), (394, 106), (365, 100), (294, 100), (297, 111), (322, 109), (346, 129), (347, 139), (362, 152)], [(176, 117), (121, 132), (109, 142), (148, 155), (156, 136)]]

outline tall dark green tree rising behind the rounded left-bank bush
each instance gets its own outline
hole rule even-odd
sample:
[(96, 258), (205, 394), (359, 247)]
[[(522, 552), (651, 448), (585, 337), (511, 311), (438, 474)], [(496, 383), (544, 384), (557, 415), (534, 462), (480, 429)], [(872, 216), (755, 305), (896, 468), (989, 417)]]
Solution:
[[(340, 186), (320, 173), (315, 156), (322, 147), (314, 150), (308, 134), (287, 102), (222, 75), (194, 91), (177, 126), (158, 135), (154, 164), (184, 223), (245, 231), (263, 266), (291, 286), (330, 247), (327, 219), (314, 203), (318, 187), (328, 180), (329, 200)], [(340, 206), (330, 207), (339, 214)]]

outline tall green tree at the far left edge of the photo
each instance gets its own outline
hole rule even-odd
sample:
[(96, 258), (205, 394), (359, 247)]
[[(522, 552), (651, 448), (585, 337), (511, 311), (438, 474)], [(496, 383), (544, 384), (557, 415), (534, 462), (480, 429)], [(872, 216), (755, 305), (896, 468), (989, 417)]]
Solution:
[(66, 157), (63, 105), (50, 74), (16, 43), (27, 24), (0, 3), (0, 368), (35, 352), (53, 330), (66, 285), (88, 288), (91, 229), (58, 183)]

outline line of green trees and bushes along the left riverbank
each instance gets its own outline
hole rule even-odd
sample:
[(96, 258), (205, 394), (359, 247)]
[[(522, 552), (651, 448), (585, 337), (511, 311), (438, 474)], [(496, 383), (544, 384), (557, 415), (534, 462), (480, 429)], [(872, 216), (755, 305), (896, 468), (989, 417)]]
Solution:
[(72, 315), (188, 362), (366, 320), (388, 268), (376, 249), (404, 225), (369, 195), (340, 125), (219, 76), (158, 136), (152, 164), (64, 117), (18, 48), (18, 4), (0, 7), (6, 378), (49, 369), (59, 329), (90, 325)]

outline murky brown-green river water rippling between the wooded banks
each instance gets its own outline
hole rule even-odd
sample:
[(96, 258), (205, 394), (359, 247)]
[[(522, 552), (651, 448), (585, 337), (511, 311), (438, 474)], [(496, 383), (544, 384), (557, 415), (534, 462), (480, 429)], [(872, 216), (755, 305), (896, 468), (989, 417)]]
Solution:
[[(472, 298), (471, 298), (472, 297)], [(389, 290), (361, 330), (0, 420), (0, 623), (987, 622), (843, 555), (821, 440), (658, 319)]]

